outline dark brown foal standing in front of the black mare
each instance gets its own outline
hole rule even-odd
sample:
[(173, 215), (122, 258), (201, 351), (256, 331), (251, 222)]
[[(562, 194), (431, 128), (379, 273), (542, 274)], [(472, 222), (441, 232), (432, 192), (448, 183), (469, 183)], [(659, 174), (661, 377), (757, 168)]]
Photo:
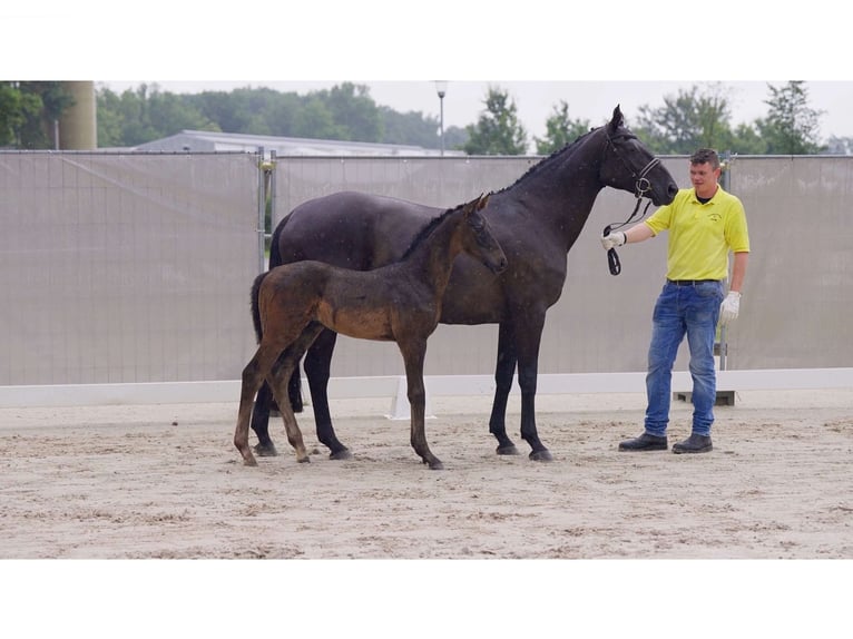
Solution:
[(308, 461), (287, 399), (287, 381), (325, 327), (351, 337), (396, 342), (405, 363), (412, 448), (431, 469), (442, 468), (424, 433), (426, 340), (439, 324), (457, 255), (468, 253), (493, 274), (507, 266), (503, 250), (480, 214), (488, 201), (489, 196), (481, 195), (444, 212), (418, 234), (399, 262), (374, 271), (349, 271), (305, 260), (258, 276), (252, 303), (259, 345), (243, 371), (234, 433), (234, 445), (246, 465), (257, 465), (248, 445), (248, 429), (252, 402), (264, 380), (273, 389), (297, 461)]

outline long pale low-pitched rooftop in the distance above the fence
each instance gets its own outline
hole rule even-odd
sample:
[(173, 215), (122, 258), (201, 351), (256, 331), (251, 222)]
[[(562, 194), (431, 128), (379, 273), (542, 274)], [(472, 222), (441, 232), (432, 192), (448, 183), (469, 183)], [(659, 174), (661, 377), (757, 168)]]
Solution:
[[(263, 147), (269, 156), (440, 156), (439, 149), (409, 145), (354, 142), (344, 140), (316, 140), (310, 138), (284, 138), (276, 136), (252, 136), (244, 134), (219, 134), (213, 131), (183, 130), (179, 134), (145, 142), (134, 150), (166, 153), (256, 153)], [(444, 155), (464, 156), (462, 151), (445, 150)]]

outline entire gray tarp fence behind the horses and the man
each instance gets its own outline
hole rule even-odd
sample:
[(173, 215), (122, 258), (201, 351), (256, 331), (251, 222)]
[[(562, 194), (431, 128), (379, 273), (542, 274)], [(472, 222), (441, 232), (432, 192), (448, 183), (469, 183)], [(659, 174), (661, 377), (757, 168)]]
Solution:
[[(539, 159), (278, 157), (273, 224), (343, 189), (449, 207)], [(687, 186), (687, 158), (661, 159)], [(0, 386), (237, 380), (254, 352), (258, 183), (253, 154), (0, 153)], [(733, 163), (753, 254), (727, 368), (853, 363), (852, 185), (851, 157)], [(598, 242), (633, 208), (630, 194), (599, 195), (548, 314), (541, 373), (645, 370), (666, 239), (620, 248), (616, 277)], [(497, 326), (442, 325), (425, 372), (491, 375), (496, 356)], [(340, 340), (333, 376), (402, 374), (395, 345)]]

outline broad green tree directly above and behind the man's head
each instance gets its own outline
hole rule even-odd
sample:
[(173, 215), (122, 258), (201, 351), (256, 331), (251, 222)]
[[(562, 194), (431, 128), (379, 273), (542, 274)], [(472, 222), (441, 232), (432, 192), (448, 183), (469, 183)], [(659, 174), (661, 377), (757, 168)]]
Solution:
[(729, 120), (732, 109), (727, 91), (720, 83), (694, 85), (665, 96), (664, 106), (639, 107), (634, 127), (657, 154), (692, 154), (697, 148), (728, 148), (733, 144)]

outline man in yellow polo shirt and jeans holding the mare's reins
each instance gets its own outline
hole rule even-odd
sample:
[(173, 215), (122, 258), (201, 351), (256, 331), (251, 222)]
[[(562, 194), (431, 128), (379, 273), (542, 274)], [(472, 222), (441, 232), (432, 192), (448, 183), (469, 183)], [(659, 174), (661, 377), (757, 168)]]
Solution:
[[(706, 453), (713, 449), (710, 425), (717, 379), (714, 342), (717, 322), (737, 317), (749, 257), (749, 235), (743, 204), (719, 186), (719, 157), (713, 149), (690, 156), (690, 183), (647, 220), (601, 238), (605, 249), (635, 244), (669, 232), (667, 279), (655, 304), (646, 374), (645, 431), (619, 444), (620, 451), (665, 451), (669, 423), (673, 364), (687, 336), (693, 377), (693, 431), (673, 444), (674, 453)], [(728, 253), (734, 253), (728, 294)]]

